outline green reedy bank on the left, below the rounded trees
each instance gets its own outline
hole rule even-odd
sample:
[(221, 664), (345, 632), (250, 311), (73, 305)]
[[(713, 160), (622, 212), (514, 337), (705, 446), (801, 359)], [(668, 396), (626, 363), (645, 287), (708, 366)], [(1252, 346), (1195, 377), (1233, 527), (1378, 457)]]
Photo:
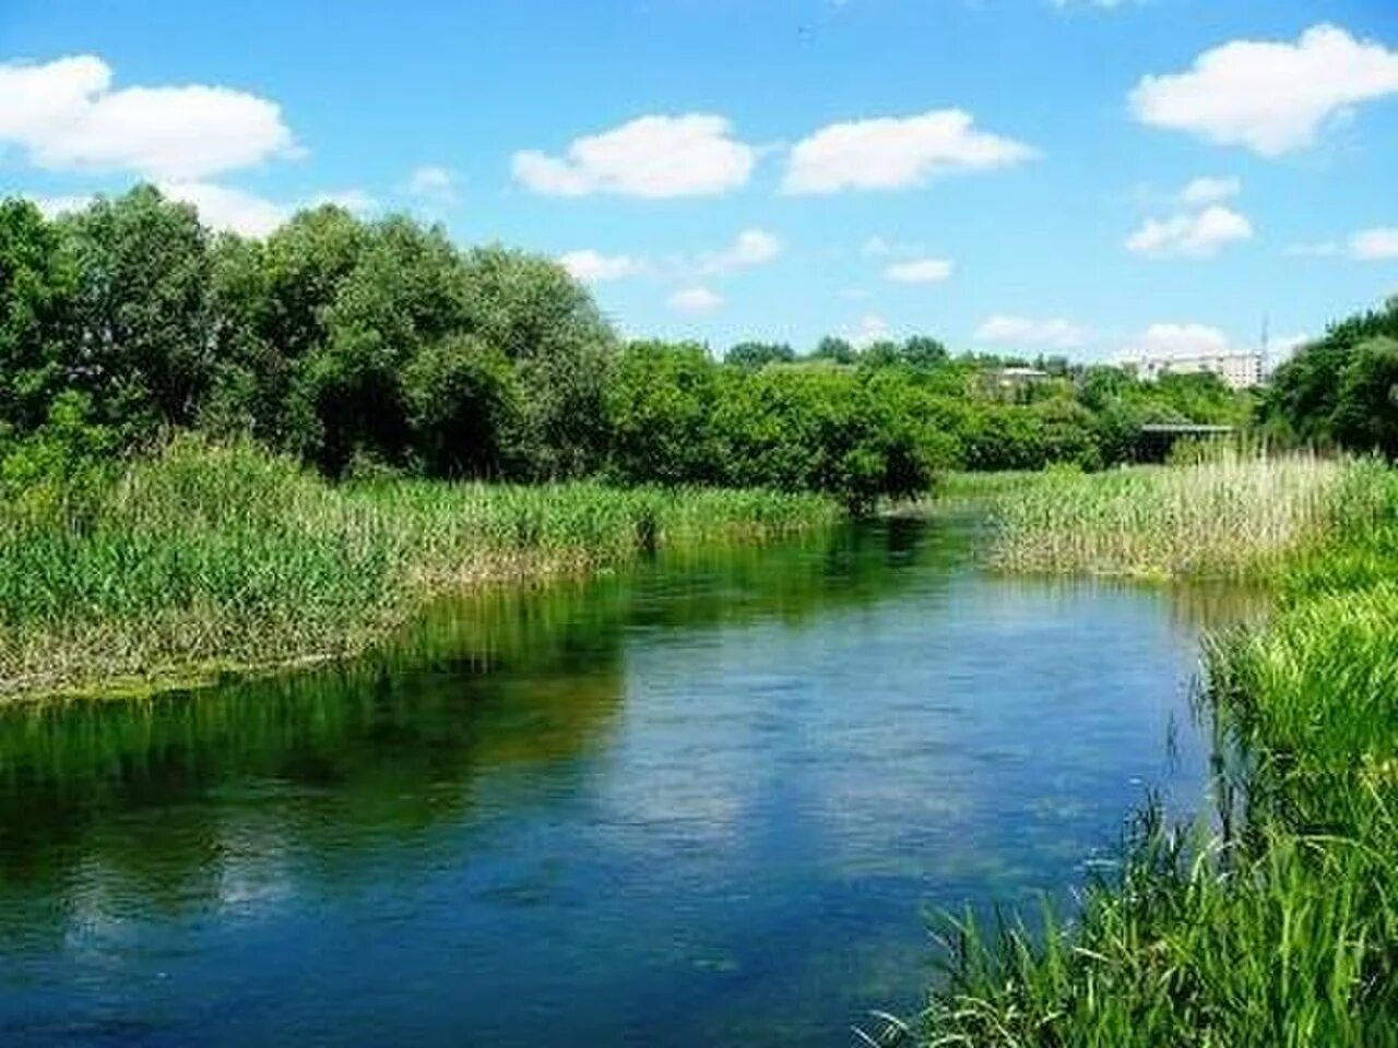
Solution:
[(347, 655), (449, 590), (835, 514), (751, 490), (336, 488), (247, 446), (185, 439), (0, 507), (0, 697)]

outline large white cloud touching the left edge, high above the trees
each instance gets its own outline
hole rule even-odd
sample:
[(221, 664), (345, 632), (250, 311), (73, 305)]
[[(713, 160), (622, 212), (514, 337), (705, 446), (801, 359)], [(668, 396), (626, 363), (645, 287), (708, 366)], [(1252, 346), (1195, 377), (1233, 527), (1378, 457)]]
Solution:
[(91, 54), (0, 64), (0, 145), (41, 168), (178, 182), (296, 154), (274, 102), (206, 85), (113, 91), (110, 67)]

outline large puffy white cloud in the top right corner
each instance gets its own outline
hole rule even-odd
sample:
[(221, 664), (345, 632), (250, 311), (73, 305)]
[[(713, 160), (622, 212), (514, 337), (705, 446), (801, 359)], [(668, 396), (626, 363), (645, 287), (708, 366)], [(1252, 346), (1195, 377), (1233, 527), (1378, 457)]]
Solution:
[(1264, 157), (1303, 150), (1352, 106), (1398, 92), (1398, 52), (1316, 25), (1296, 43), (1232, 41), (1187, 73), (1142, 77), (1138, 120), (1244, 145)]

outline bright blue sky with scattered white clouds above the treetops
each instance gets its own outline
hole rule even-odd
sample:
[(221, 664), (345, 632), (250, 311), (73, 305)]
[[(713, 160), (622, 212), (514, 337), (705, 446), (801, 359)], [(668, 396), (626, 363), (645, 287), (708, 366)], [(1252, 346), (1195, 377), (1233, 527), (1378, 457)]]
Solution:
[(1103, 359), (1398, 292), (1392, 0), (4, 0), (0, 63), (0, 191), (407, 210), (716, 349)]

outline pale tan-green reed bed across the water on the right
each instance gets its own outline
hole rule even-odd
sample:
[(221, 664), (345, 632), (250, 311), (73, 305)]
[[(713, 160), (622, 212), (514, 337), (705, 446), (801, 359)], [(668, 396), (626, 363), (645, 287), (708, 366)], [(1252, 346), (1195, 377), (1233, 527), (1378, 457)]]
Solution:
[(1371, 513), (1378, 467), (1227, 456), (1106, 474), (1046, 472), (993, 499), (993, 562), (1009, 572), (1265, 577), (1336, 521)]

